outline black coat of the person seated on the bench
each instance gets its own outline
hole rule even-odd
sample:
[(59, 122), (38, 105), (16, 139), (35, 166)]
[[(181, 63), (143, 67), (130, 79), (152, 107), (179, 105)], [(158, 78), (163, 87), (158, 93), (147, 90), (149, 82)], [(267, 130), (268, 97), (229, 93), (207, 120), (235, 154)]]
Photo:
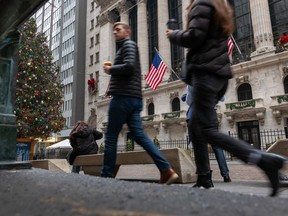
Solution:
[(83, 128), (79, 130), (70, 144), (74, 152), (81, 154), (97, 154), (98, 145), (95, 140), (101, 139), (103, 134), (96, 129)]

